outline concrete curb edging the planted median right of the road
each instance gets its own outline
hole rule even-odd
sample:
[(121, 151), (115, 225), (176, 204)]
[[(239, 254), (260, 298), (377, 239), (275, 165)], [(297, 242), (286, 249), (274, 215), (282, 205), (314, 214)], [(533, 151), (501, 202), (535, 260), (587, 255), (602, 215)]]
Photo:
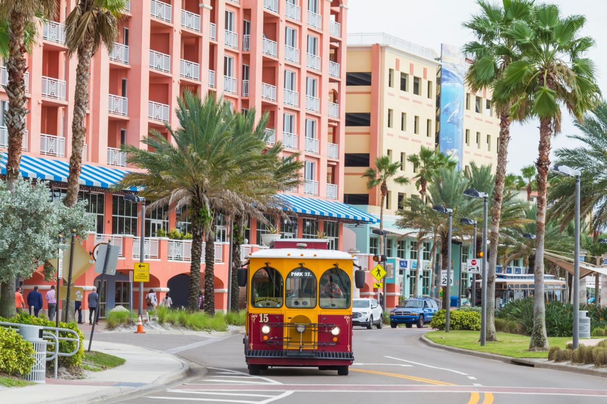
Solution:
[(469, 349), (456, 348), (455, 346), (441, 345), (439, 343), (433, 342), (428, 339), (425, 335), (419, 337), (419, 340), (432, 348), (444, 349), (445, 351), (452, 351), (458, 354), (476, 356), (483, 359), (492, 359), (499, 360), (500, 362), (510, 363), (510, 365), (518, 365), (518, 366), (529, 366), (532, 368), (541, 368), (541, 369), (554, 369), (563, 372), (571, 372), (577, 374), (587, 374), (589, 376), (597, 376), (597, 377), (607, 377), (607, 371), (592, 369), (592, 368), (584, 368), (582, 366), (575, 365), (567, 365), (566, 363), (552, 363), (545, 362), (544, 360), (537, 360), (531, 358), (512, 358), (509, 356), (497, 355), (497, 354), (489, 354), (485, 352), (477, 352), (470, 351)]

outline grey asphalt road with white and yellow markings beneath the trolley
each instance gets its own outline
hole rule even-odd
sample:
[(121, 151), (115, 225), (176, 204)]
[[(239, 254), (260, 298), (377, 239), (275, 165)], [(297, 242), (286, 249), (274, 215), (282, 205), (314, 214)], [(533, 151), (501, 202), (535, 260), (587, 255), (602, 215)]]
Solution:
[[(607, 403), (604, 378), (430, 348), (419, 342), (425, 331), (355, 328), (349, 376), (316, 368), (270, 368), (249, 376), (242, 335), (137, 336), (138, 345), (169, 351), (204, 366), (206, 372), (117, 403)], [(102, 339), (129, 343), (123, 336), (100, 334)]]

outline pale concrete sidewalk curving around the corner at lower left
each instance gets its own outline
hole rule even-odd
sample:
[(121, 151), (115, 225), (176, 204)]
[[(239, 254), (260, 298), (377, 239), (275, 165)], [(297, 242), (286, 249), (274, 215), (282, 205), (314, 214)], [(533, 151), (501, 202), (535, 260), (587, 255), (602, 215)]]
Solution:
[[(87, 348), (89, 342), (84, 343)], [(114, 369), (87, 372), (87, 379), (83, 380), (46, 379), (46, 384), (2, 389), (2, 402), (95, 403), (161, 388), (188, 376), (190, 371), (188, 363), (175, 356), (139, 346), (93, 341), (92, 350), (124, 358), (126, 362)]]

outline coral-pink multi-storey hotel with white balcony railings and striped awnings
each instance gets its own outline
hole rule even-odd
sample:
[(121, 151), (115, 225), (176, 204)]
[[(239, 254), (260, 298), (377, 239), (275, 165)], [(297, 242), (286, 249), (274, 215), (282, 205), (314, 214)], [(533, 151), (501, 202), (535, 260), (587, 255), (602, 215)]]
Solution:
[[(64, 47), (64, 25), (76, 0), (58, 0), (56, 21), (40, 30), (41, 38), (29, 57), (27, 77), (29, 133), (24, 139), (21, 170), (24, 177), (52, 181), (53, 198), (64, 194), (67, 160), (71, 153), (73, 91), (76, 58)], [(120, 21), (114, 50), (93, 58), (90, 107), (86, 118), (82, 197), (97, 229), (84, 243), (87, 251), (101, 240), (120, 247), (118, 272), (107, 282), (101, 314), (114, 305), (129, 305), (128, 274), (138, 257), (140, 207), (107, 188), (126, 167), (121, 144), (144, 147), (141, 137), (151, 128), (177, 125), (176, 99), (185, 90), (223, 94), (234, 110), (256, 107), (268, 111), (270, 142), (282, 141), (285, 154), (298, 151), (305, 162), (304, 183), (285, 194), (297, 217), (270, 218), (283, 237), (316, 237), (324, 231), (331, 247), (343, 247), (345, 222), (376, 219), (342, 204), (344, 190), (345, 33), (346, 0), (133, 0)], [(2, 68), (0, 79), (7, 81)], [(4, 88), (0, 99), (6, 100)], [(7, 132), (1, 102), (0, 147)], [(166, 130), (164, 130), (166, 133)], [(169, 136), (166, 133), (166, 136)], [(4, 170), (5, 154), (0, 154)], [(2, 172), (4, 174), (5, 171)], [(63, 188), (63, 189), (62, 189)], [(146, 260), (151, 279), (146, 290), (175, 291), (183, 304), (189, 273), (188, 241), (155, 237), (158, 228), (188, 230), (175, 213), (159, 208), (146, 214)], [(219, 219), (215, 251), (215, 300), (224, 308), (227, 291), (228, 245), (226, 223)], [(265, 225), (249, 225), (249, 245), (259, 248)], [(351, 232), (350, 232), (351, 233)], [(348, 242), (348, 245), (351, 243)], [(202, 265), (201, 271), (204, 271)], [(92, 288), (98, 274), (92, 268), (75, 280)], [(107, 279), (107, 278), (106, 278)], [(24, 280), (47, 290), (36, 273)], [(183, 293), (181, 293), (183, 291)], [(135, 293), (134, 302), (138, 301)], [(85, 299), (86, 302), (86, 299)], [(136, 303), (135, 303), (136, 304)], [(84, 303), (83, 303), (84, 305)], [(86, 305), (83, 306), (86, 309)]]

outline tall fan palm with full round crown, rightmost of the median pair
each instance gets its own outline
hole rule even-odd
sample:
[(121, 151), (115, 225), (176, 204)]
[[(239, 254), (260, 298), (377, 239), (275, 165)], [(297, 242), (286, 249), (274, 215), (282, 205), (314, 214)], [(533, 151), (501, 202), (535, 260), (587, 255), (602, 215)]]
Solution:
[[(517, 43), (520, 59), (512, 62), (495, 85), (498, 94), (517, 99), (510, 108), (521, 121), (540, 120), (537, 167), (537, 239), (535, 250), (534, 328), (529, 349), (548, 349), (544, 305), (544, 234), (546, 231), (546, 184), (550, 142), (560, 132), (561, 106), (575, 118), (594, 107), (599, 99), (594, 62), (584, 55), (594, 39), (581, 36), (586, 18), (562, 17), (557, 5), (534, 5), (533, 21), (517, 20), (507, 36)], [(504, 95), (504, 96), (506, 96)]]

